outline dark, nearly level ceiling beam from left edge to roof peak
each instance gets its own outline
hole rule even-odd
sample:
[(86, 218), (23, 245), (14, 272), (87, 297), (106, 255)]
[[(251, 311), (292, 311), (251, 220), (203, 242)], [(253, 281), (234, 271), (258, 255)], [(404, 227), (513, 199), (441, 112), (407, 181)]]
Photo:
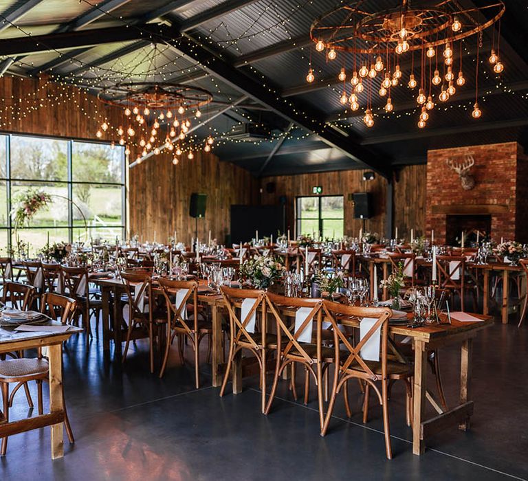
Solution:
[(0, 39), (0, 55), (26, 55), (51, 50), (76, 49), (102, 43), (127, 42), (150, 39), (161, 41), (166, 36), (164, 25), (142, 25), (141, 29), (131, 27), (108, 27), (94, 30), (79, 30), (60, 34), (34, 35)]

